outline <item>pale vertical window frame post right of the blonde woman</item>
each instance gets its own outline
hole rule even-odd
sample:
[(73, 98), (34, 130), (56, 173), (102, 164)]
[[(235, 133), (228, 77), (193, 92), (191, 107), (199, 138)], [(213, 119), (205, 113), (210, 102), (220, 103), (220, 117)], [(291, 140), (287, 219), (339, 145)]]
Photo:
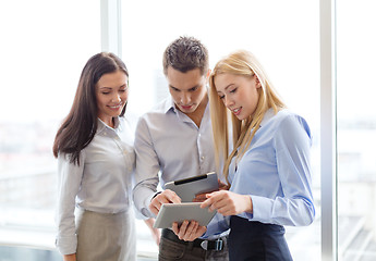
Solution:
[(336, 0), (320, 0), (319, 22), (322, 260), (329, 261), (338, 260)]

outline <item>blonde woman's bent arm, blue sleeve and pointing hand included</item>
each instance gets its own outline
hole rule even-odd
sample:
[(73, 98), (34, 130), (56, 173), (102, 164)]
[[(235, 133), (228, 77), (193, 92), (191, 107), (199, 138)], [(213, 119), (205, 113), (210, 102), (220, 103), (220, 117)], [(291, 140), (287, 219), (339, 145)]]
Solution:
[[(301, 120), (301, 121), (299, 121)], [(248, 220), (280, 225), (308, 225), (315, 209), (311, 190), (311, 133), (302, 119), (282, 121), (274, 138), (277, 174), (283, 195), (265, 197), (218, 191), (207, 195), (202, 208), (223, 215), (241, 214)]]

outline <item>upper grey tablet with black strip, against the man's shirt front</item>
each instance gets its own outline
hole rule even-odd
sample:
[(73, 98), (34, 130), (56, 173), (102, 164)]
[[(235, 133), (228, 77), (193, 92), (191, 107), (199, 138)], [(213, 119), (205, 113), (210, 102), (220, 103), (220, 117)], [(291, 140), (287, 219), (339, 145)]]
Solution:
[(182, 202), (192, 202), (197, 194), (218, 190), (217, 173), (210, 172), (204, 175), (165, 184), (165, 189), (171, 189), (181, 198)]

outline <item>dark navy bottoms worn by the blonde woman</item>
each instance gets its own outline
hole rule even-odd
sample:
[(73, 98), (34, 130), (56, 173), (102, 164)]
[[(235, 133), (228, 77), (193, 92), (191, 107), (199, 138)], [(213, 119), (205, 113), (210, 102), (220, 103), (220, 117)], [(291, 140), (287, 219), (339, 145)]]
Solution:
[(291, 261), (289, 246), (284, 239), (284, 227), (280, 225), (250, 222), (231, 216), (229, 235), (230, 261)]

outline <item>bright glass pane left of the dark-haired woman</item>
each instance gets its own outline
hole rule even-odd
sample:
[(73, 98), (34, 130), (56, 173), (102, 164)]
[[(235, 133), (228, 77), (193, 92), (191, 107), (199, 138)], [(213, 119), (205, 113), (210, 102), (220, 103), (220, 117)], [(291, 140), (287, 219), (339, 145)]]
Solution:
[(99, 2), (1, 1), (0, 32), (0, 241), (54, 248), (52, 142), (100, 51)]

